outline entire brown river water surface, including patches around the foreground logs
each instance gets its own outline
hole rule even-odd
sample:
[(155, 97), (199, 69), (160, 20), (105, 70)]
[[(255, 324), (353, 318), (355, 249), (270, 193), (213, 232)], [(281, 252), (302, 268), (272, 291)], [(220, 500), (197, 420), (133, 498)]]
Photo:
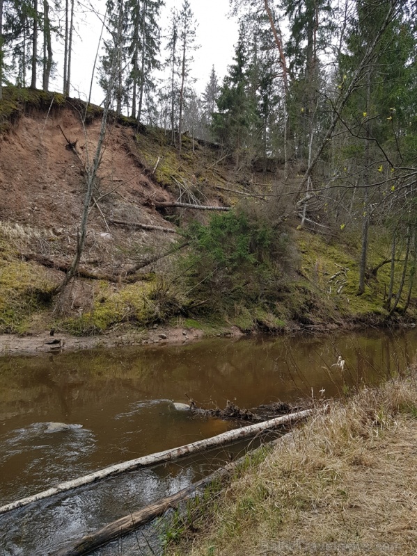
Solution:
[[(250, 408), (312, 394), (337, 396), (404, 370), (416, 350), (417, 329), (410, 329), (0, 357), (0, 505), (234, 426), (191, 418), (175, 411), (173, 401), (189, 396), (207, 407), (233, 400)], [(343, 373), (335, 365), (339, 355)], [(48, 432), (50, 422), (82, 427)], [(244, 445), (234, 445), (130, 472), (0, 516), (0, 555), (52, 554), (242, 450)], [(95, 555), (150, 553), (148, 543), (157, 554), (158, 539), (150, 526)]]

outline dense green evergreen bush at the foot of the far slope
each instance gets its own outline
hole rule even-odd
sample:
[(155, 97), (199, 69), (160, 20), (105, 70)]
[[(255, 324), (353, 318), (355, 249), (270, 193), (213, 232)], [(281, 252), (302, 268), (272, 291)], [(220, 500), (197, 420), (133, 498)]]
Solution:
[(187, 236), (192, 297), (210, 296), (215, 308), (239, 300), (259, 302), (276, 290), (288, 235), (262, 215), (250, 209), (214, 214), (206, 226), (190, 224)]

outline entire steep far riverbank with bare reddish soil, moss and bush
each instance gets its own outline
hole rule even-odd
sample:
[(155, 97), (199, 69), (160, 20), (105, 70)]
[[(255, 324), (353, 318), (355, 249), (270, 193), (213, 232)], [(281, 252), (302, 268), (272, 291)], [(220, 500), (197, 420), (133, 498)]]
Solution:
[[(79, 276), (56, 311), (54, 293), (77, 245), (86, 152), (97, 143), (101, 110), (89, 108), (85, 136), (80, 101), (15, 88), (4, 93), (0, 333), (10, 336), (0, 336), (0, 353), (184, 343), (218, 333), (325, 334), (417, 320), (412, 272), (400, 287), (404, 261), (397, 261), (391, 284), (386, 229), (372, 224), (366, 288), (358, 295), (358, 231), (340, 222), (320, 233), (301, 229), (297, 218), (276, 223), (283, 207), (263, 195), (281, 183), (279, 165), (274, 172), (256, 165), (240, 172), (216, 145), (184, 137), (179, 153), (162, 130), (138, 130), (136, 121), (117, 117), (106, 137)], [(78, 141), (77, 150), (68, 149), (63, 133)], [(288, 186), (297, 190), (295, 172)], [(191, 203), (178, 206), (179, 198)], [(203, 203), (198, 208), (235, 210), (216, 220), (196, 201)], [(237, 250), (241, 243), (250, 249)], [(399, 295), (395, 311), (387, 299), (391, 286)], [(55, 344), (48, 343), (51, 327)]]

